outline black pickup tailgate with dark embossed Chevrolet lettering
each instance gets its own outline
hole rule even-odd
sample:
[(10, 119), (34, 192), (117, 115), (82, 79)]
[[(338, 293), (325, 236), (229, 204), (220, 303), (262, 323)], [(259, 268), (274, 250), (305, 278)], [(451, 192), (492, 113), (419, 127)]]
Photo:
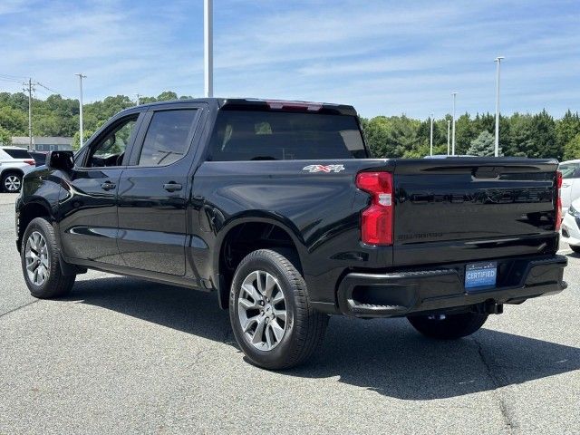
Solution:
[(395, 266), (555, 253), (556, 160), (397, 160)]

